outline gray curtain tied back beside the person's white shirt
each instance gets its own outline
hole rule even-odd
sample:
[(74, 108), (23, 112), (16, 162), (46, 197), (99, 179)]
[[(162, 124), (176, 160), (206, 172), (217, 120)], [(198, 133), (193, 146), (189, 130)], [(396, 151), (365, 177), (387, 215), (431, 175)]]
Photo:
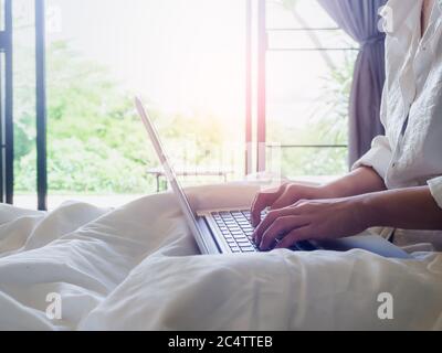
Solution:
[(385, 33), (378, 31), (378, 10), (386, 0), (318, 0), (336, 23), (360, 43), (349, 111), (350, 165), (383, 133), (379, 119), (385, 75)]

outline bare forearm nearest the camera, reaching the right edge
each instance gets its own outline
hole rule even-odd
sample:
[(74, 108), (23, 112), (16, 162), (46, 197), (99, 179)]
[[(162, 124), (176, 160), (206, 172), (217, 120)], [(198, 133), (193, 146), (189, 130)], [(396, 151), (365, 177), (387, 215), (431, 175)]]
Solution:
[(442, 208), (428, 186), (376, 192), (358, 199), (360, 218), (367, 227), (442, 229)]

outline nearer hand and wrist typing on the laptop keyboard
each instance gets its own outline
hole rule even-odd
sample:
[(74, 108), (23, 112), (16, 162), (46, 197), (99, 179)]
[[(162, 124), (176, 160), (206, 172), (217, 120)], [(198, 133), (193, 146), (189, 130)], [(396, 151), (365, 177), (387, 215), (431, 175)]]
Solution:
[(351, 236), (368, 226), (361, 197), (302, 200), (271, 211), (254, 233), (260, 249), (288, 248), (296, 242)]

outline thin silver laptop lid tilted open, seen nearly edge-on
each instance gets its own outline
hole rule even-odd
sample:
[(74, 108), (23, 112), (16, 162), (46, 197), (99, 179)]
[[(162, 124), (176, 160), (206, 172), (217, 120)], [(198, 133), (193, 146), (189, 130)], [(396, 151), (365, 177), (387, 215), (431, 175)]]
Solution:
[(177, 180), (176, 173), (173, 171), (173, 168), (170, 164), (169, 158), (166, 154), (165, 149), (162, 148), (161, 141), (159, 139), (159, 136), (155, 129), (155, 126), (147, 113), (147, 110), (144, 107), (144, 104), (140, 98), (136, 97), (135, 98), (135, 106), (138, 110), (138, 114), (143, 120), (143, 124), (146, 127), (146, 130), (150, 137), (150, 140), (154, 145), (154, 149), (158, 156), (158, 159), (165, 169), (166, 178), (170, 185), (172, 186), (172, 191), (178, 199), (179, 205), (181, 207), (182, 213), (185, 214), (186, 221), (188, 223), (188, 226), (197, 242), (198, 247), (200, 248), (202, 254), (209, 254), (209, 246), (207, 242), (204, 240), (203, 235), (201, 234), (201, 231), (198, 227), (197, 220), (194, 218), (194, 214), (192, 208), (190, 207), (189, 201), (186, 196), (186, 193), (183, 192), (179, 181)]

